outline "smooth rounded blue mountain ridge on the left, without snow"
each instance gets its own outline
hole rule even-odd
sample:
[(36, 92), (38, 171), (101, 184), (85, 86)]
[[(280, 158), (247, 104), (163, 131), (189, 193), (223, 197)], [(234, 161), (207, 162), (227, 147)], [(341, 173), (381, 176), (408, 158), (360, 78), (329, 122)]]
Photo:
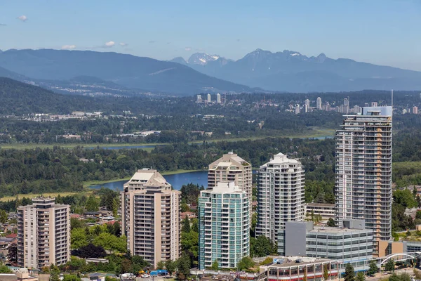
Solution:
[(209, 77), (179, 63), (121, 53), (64, 50), (8, 50), (0, 66), (33, 79), (98, 77), (132, 89), (189, 95), (214, 91), (251, 91), (248, 86)]

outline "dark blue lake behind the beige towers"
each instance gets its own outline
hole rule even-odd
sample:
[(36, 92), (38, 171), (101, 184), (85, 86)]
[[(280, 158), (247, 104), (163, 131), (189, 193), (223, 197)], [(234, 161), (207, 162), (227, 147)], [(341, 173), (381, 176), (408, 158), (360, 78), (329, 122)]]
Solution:
[[(192, 171), (189, 173), (180, 173), (173, 175), (163, 175), (163, 177), (173, 185), (175, 190), (180, 190), (182, 185), (187, 185), (188, 183), (194, 183), (203, 185), (205, 188), (208, 185), (208, 171)], [(123, 190), (123, 184), (128, 181), (113, 181), (112, 183), (102, 183), (98, 185), (91, 185), (91, 188), (109, 188), (112, 190)]]

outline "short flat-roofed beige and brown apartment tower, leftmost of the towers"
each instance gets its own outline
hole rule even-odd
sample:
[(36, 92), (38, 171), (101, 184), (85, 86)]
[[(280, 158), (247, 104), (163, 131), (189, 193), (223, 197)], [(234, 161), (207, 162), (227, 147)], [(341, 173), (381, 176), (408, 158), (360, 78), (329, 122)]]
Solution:
[(70, 259), (69, 205), (55, 198), (36, 197), (18, 207), (18, 265), (25, 268), (60, 266)]

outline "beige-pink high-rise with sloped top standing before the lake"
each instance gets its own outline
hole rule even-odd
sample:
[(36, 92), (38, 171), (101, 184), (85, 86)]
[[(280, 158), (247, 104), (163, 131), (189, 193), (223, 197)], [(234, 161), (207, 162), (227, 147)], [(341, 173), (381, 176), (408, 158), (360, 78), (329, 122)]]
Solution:
[(121, 225), (131, 254), (154, 266), (180, 257), (180, 191), (156, 170), (138, 170), (121, 192)]

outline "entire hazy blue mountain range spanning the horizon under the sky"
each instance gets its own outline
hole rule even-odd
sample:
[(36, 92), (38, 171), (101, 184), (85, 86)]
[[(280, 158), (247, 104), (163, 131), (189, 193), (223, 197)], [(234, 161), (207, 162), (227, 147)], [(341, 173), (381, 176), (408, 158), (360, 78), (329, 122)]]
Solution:
[(112, 88), (112, 94), (131, 90), (178, 96), (212, 92), (421, 90), (421, 72), (333, 59), (323, 53), (308, 57), (297, 51), (272, 53), (262, 49), (239, 60), (194, 53), (188, 60), (178, 57), (171, 61), (112, 52), (11, 49), (0, 52), (0, 77), (53, 85), (51, 89), (54, 85), (67, 87), (83, 81), (97, 89)]

